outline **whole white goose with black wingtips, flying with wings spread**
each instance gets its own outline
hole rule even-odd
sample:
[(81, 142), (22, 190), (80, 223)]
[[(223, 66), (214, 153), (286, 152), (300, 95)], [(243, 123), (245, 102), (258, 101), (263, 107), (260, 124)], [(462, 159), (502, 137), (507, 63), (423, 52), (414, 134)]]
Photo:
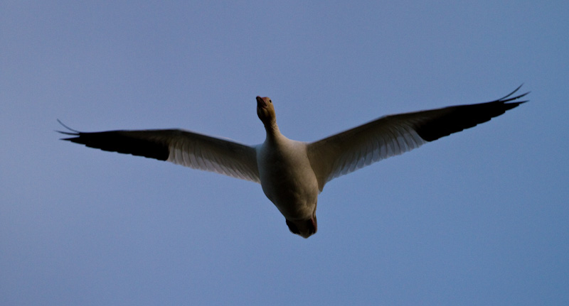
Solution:
[[(520, 86), (521, 87), (521, 86)], [(289, 230), (308, 238), (317, 232), (318, 195), (334, 177), (351, 173), (390, 156), (418, 148), (489, 121), (527, 101), (514, 92), (491, 102), (449, 106), (383, 116), (312, 143), (293, 141), (277, 126), (275, 106), (257, 97), (257, 115), (265, 142), (247, 146), (181, 129), (58, 131), (65, 141), (103, 151), (166, 160), (261, 184), (262, 191), (285, 217)]]

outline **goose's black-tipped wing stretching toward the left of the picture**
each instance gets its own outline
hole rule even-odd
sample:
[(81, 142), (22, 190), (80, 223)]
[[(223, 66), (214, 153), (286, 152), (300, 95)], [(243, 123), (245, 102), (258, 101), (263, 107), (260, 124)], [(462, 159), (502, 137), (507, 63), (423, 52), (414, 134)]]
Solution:
[(179, 129), (93, 133), (73, 129), (70, 131), (60, 131), (73, 136), (62, 140), (103, 151), (156, 158), (194, 169), (260, 182), (255, 148), (233, 141)]

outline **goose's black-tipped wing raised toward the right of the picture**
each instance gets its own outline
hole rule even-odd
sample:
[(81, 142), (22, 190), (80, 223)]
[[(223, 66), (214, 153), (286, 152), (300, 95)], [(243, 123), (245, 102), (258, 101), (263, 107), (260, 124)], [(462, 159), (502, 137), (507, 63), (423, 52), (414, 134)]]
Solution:
[(472, 128), (504, 114), (509, 109), (527, 102), (514, 102), (529, 93), (512, 97), (520, 87), (506, 97), (492, 102), (383, 116), (348, 131), (309, 143), (308, 156), (317, 175), (320, 190), (334, 177), (405, 153), (428, 141)]

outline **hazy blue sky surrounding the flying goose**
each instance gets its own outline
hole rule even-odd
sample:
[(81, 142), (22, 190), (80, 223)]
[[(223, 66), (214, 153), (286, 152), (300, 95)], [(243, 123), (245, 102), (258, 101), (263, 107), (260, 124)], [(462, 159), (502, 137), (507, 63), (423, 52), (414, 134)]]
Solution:
[[(189, 2), (189, 3), (188, 3)], [(192, 3), (195, 2), (195, 3)], [(567, 1), (3, 1), (0, 305), (568, 305)], [(315, 141), (504, 116), (329, 182), (289, 233), (260, 185), (59, 141)]]

